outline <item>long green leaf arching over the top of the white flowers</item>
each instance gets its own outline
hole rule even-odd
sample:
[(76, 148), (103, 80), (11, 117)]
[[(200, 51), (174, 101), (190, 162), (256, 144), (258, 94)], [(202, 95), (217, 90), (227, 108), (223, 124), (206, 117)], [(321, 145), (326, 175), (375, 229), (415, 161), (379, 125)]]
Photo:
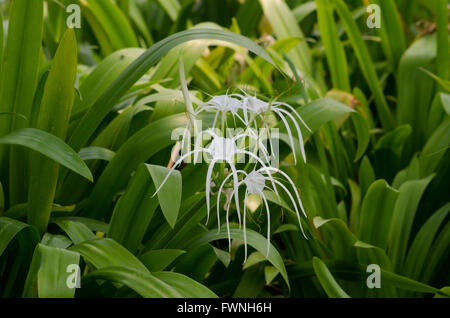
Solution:
[(120, 97), (124, 95), (133, 84), (150, 69), (150, 67), (159, 62), (159, 60), (175, 46), (196, 39), (222, 40), (241, 45), (256, 55), (263, 57), (266, 61), (275, 66), (270, 56), (262, 47), (242, 35), (216, 29), (191, 29), (176, 33), (153, 45), (109, 86), (81, 119), (70, 139), (70, 145), (75, 150), (80, 150)]

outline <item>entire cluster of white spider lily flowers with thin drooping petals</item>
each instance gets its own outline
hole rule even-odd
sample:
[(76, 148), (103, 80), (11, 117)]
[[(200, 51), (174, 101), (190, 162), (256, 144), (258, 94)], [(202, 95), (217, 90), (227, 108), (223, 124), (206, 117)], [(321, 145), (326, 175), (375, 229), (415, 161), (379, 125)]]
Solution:
[[(245, 259), (247, 258), (247, 234), (246, 234), (246, 204), (247, 199), (250, 194), (258, 195), (261, 197), (262, 202), (264, 203), (266, 213), (267, 213), (267, 256), (270, 251), (270, 209), (269, 204), (267, 202), (267, 198), (265, 195), (265, 191), (271, 191), (276, 194), (279, 198), (278, 187), (281, 188), (286, 195), (289, 197), (289, 200), (297, 214), (300, 228), (303, 228), (301, 225), (300, 212), (302, 211), (305, 217), (306, 213), (302, 205), (302, 201), (300, 199), (300, 195), (297, 191), (297, 188), (291, 178), (281, 171), (278, 168), (266, 165), (263, 159), (267, 159), (268, 150), (261, 143), (261, 135), (257, 133), (258, 127), (266, 128), (267, 131), (267, 139), (271, 142), (272, 137), (270, 136), (269, 127), (265, 120), (265, 115), (269, 112), (275, 113), (283, 122), (287, 134), (289, 136), (290, 145), (292, 147), (294, 160), (296, 161), (295, 156), (295, 148), (294, 148), (294, 137), (290, 126), (288, 124), (288, 119), (292, 121), (296, 128), (297, 136), (300, 143), (300, 149), (303, 156), (303, 160), (306, 162), (305, 149), (303, 145), (303, 137), (302, 132), (300, 130), (300, 125), (303, 124), (306, 129), (309, 130), (306, 123), (302, 120), (300, 115), (295, 111), (295, 109), (281, 102), (272, 102), (268, 103), (261, 99), (258, 99), (256, 96), (251, 96), (245, 92), (243, 94), (225, 94), (212, 97), (209, 101), (199, 105), (195, 110), (187, 96), (187, 87), (184, 82), (184, 71), (182, 70), (180, 64), (180, 75), (181, 75), (181, 83), (183, 87), (183, 92), (185, 94), (186, 106), (188, 113), (190, 114), (190, 121), (188, 126), (185, 129), (185, 133), (183, 134), (182, 144), (190, 143), (191, 129), (196, 128), (193, 121), (196, 121), (200, 113), (202, 112), (213, 112), (215, 113), (214, 121), (212, 126), (208, 129), (194, 132), (196, 133), (196, 141), (194, 142), (194, 149), (190, 151), (186, 151), (184, 154), (180, 156), (180, 158), (174, 163), (171, 170), (167, 174), (166, 178), (163, 180), (159, 188), (156, 190), (155, 194), (163, 187), (171, 173), (174, 169), (180, 165), (187, 158), (194, 156), (194, 164), (197, 162), (196, 158), (199, 154), (203, 153), (204, 155), (208, 155), (209, 159), (209, 167), (206, 175), (206, 205), (207, 205), (207, 221), (209, 220), (210, 214), (210, 195), (211, 188), (218, 187), (217, 190), (217, 221), (218, 228), (220, 231), (220, 197), (222, 193), (227, 193), (227, 204), (226, 204), (226, 226), (228, 233), (228, 240), (231, 246), (231, 237), (230, 237), (230, 224), (229, 224), (229, 210), (231, 206), (232, 198), (234, 197), (236, 213), (239, 220), (239, 225), (243, 227), (244, 231), (244, 246), (245, 246)], [(236, 123), (236, 119), (239, 120), (247, 129), (244, 133), (238, 134), (232, 138), (223, 137), (225, 135), (225, 127), (223, 125), (224, 120), (226, 120), (227, 116), (231, 115), (234, 123)], [(217, 128), (219, 117), (222, 119), (222, 127)], [(258, 126), (259, 125), (259, 126)], [(220, 126), (220, 125), (219, 125)], [(236, 124), (235, 124), (236, 126)], [(255, 132), (256, 131), (256, 132)], [(212, 139), (206, 143), (205, 146), (202, 145), (204, 136), (209, 136)], [(255, 147), (253, 149), (248, 149), (248, 146), (245, 146), (245, 143), (238, 143), (241, 139), (249, 139), (253, 141)], [(184, 149), (184, 146), (181, 147)], [(265, 158), (260, 158), (257, 156), (257, 151), (262, 150)], [(271, 149), (273, 147), (271, 146)], [(248, 156), (250, 159), (247, 162), (244, 169), (237, 169), (236, 164), (238, 156)], [(221, 163), (221, 171), (217, 173), (217, 178), (213, 174), (214, 168), (216, 167), (216, 163)], [(240, 163), (240, 162), (239, 162)], [(251, 164), (252, 163), (252, 164)], [(290, 188), (280, 182), (279, 180), (274, 178), (275, 174), (279, 174), (283, 177), (285, 181), (289, 184)], [(214, 179), (214, 180), (213, 180)], [(240, 202), (239, 202), (239, 188), (241, 186), (245, 186), (245, 196), (243, 202), (243, 215), (241, 216)], [(242, 224), (241, 224), (242, 220)], [(306, 237), (306, 236), (305, 236)]]

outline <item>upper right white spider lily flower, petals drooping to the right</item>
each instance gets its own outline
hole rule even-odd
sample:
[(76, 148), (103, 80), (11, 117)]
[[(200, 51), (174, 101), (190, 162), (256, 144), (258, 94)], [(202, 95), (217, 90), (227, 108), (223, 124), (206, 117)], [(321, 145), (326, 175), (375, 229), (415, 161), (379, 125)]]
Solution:
[[(296, 158), (296, 154), (295, 154), (295, 147), (294, 147), (294, 138), (292, 136), (292, 131), (289, 127), (289, 123), (288, 123), (286, 117), (289, 118), (294, 123), (298, 138), (300, 140), (300, 151), (302, 153), (303, 160), (306, 163), (306, 153), (305, 153), (305, 147), (303, 144), (302, 131), (300, 129), (299, 124), (297, 123), (297, 119), (306, 127), (306, 129), (308, 129), (309, 131), (311, 131), (311, 129), (308, 127), (308, 125), (306, 125), (306, 123), (301, 118), (301, 116), (297, 113), (297, 111), (294, 109), (294, 107), (292, 107), (289, 104), (282, 103), (282, 102), (268, 103), (263, 100), (260, 100), (256, 96), (248, 95), (246, 92), (244, 92), (244, 95), (234, 94), (233, 96), (236, 96), (236, 97), (239, 97), (242, 99), (242, 108), (244, 110), (245, 118), (248, 118), (247, 113), (253, 113), (262, 118), (263, 115), (266, 114), (269, 110), (273, 111), (275, 114), (277, 114), (280, 117), (281, 121), (283, 122), (283, 124), (286, 128), (286, 131), (287, 131), (287, 134), (289, 137), (289, 141), (291, 143), (291, 148), (293, 150), (293, 155), (294, 155), (294, 162), (297, 162), (297, 158)], [(288, 110), (286, 110), (283, 107), (286, 107)], [(293, 113), (297, 119), (291, 113)]]

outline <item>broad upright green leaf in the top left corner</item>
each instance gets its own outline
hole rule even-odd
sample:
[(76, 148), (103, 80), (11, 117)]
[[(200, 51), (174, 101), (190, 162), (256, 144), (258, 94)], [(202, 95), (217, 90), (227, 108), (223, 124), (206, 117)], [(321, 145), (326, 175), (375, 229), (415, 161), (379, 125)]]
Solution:
[[(38, 82), (43, 18), (43, 0), (33, 2), (15, 0), (11, 3), (8, 38), (0, 67), (0, 113), (17, 113), (25, 119), (21, 116), (14, 118), (0, 116), (0, 137), (29, 124), (27, 121), (30, 119), (34, 91)], [(1, 46), (3, 47), (3, 42)], [(5, 187), (8, 185), (5, 179), (8, 173), (5, 161), (7, 156), (8, 147), (0, 146), (0, 172)], [(14, 151), (12, 159), (14, 160), (11, 161), (9, 172), (13, 173), (14, 178), (19, 178), (13, 180), (17, 181), (14, 184), (16, 188), (25, 182), (23, 170), (26, 161), (20, 151)], [(15, 193), (14, 200), (20, 200), (20, 194), (23, 195), (23, 192)]]

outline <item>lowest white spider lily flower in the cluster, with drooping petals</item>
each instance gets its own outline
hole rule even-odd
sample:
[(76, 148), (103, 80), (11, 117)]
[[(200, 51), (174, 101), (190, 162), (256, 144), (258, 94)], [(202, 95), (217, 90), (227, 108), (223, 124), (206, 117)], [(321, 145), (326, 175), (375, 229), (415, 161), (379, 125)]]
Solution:
[[(289, 199), (291, 200), (292, 205), (294, 206), (295, 209), (295, 213), (297, 215), (298, 218), (298, 222), (300, 225), (300, 229), (302, 231), (303, 236), (306, 238), (305, 232), (303, 231), (303, 227), (301, 224), (301, 218), (300, 218), (300, 213), (299, 213), (299, 207), (302, 210), (302, 213), (305, 217), (307, 217), (305, 209), (303, 208), (303, 204), (302, 201), (300, 199), (300, 195), (298, 194), (297, 188), (295, 187), (294, 182), (291, 180), (291, 178), (289, 178), (289, 176), (283, 172), (280, 169), (274, 168), (274, 167), (262, 167), (258, 170), (253, 170), (250, 173), (247, 173), (243, 170), (238, 170), (238, 173), (244, 174), (245, 177), (242, 181), (240, 181), (238, 183), (238, 187), (241, 186), (242, 184), (245, 184), (246, 186), (246, 191), (245, 191), (245, 197), (244, 197), (244, 213), (243, 213), (243, 217), (242, 217), (242, 223), (243, 223), (243, 231), (244, 231), (244, 247), (245, 247), (245, 259), (244, 262), (247, 260), (247, 230), (246, 230), (246, 203), (247, 203), (247, 199), (248, 196), (250, 194), (256, 194), (258, 195), (266, 208), (266, 212), (267, 212), (267, 257), (269, 256), (269, 250), (270, 250), (270, 209), (269, 209), (269, 204), (267, 202), (267, 198), (266, 195), (264, 194), (264, 190), (269, 190), (269, 191), (273, 191), (276, 192), (276, 186), (279, 186), (281, 189), (284, 190), (284, 192), (287, 194), (287, 196), (289, 197)], [(289, 189), (279, 180), (273, 179), (272, 178), (272, 173), (279, 173), (281, 174), (291, 185), (296, 199), (297, 201), (294, 199), (294, 196), (291, 194), (291, 192), (289, 191)], [(220, 218), (219, 218), (219, 202), (220, 202), (220, 195), (223, 191), (224, 185), (226, 184), (226, 182), (228, 181), (228, 178), (230, 176), (227, 176), (227, 178), (224, 179), (223, 183), (221, 184), (219, 191), (217, 193), (217, 220), (218, 220), (218, 228), (220, 230)], [(272, 188), (270, 188), (269, 186), (266, 185), (266, 181), (270, 180), (272, 182)], [(277, 193), (277, 192), (276, 192)], [(231, 193), (231, 195), (229, 195), (229, 200), (232, 200), (233, 195), (236, 197), (238, 196), (238, 191), (237, 188), (235, 187), (233, 189), (233, 192)], [(278, 195), (278, 193), (277, 193)], [(228, 244), (229, 244), (229, 248), (231, 248), (231, 235), (230, 235), (230, 224), (229, 224), (229, 209), (230, 209), (230, 205), (227, 205), (227, 211), (226, 211), (226, 224), (227, 224), (227, 233), (228, 233)], [(240, 221), (240, 215), (239, 216), (239, 224), (241, 223)]]

